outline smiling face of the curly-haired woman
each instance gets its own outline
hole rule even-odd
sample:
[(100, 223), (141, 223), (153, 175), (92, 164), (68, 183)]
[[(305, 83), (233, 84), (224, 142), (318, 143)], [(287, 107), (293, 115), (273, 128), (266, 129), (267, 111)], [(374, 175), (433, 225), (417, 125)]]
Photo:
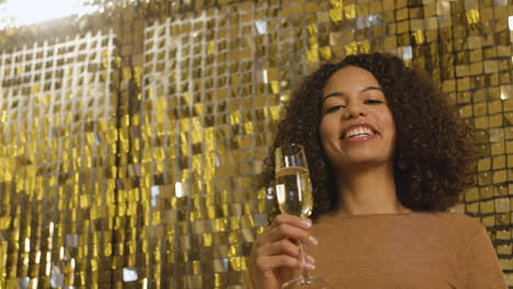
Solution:
[(337, 170), (392, 161), (396, 125), (376, 78), (360, 67), (334, 72), (322, 91), (320, 138)]

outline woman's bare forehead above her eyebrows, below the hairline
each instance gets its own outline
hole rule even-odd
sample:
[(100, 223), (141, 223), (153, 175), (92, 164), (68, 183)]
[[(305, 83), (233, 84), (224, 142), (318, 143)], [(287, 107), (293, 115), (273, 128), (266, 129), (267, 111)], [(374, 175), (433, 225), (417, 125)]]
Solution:
[(367, 86), (381, 88), (371, 71), (361, 67), (349, 66), (337, 70), (328, 79), (323, 92), (328, 93), (335, 90), (351, 90)]

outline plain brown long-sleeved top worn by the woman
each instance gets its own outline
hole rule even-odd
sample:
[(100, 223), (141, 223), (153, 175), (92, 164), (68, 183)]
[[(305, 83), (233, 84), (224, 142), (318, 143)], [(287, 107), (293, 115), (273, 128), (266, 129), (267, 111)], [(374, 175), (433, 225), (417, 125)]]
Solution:
[(311, 231), (314, 274), (333, 288), (508, 288), (487, 231), (467, 216), (324, 216)]

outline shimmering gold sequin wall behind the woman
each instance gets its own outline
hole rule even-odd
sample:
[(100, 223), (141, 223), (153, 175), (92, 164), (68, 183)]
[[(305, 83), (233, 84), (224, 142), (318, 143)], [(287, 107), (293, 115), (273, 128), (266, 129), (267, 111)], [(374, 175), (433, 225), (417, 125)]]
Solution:
[(424, 67), (475, 126), (454, 210), (513, 288), (511, 0), (90, 2), (0, 32), (0, 288), (243, 288), (290, 91), (371, 51)]

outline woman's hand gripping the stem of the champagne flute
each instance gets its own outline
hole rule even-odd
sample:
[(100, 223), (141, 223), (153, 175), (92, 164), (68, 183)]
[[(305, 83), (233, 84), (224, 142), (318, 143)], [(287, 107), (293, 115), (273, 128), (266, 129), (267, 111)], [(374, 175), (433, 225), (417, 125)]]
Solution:
[[(254, 289), (280, 289), (300, 267), (297, 242), (317, 245), (308, 229), (310, 220), (292, 215), (278, 215), (256, 239), (250, 256), (249, 273)], [(315, 259), (306, 257), (305, 267), (312, 270)]]

